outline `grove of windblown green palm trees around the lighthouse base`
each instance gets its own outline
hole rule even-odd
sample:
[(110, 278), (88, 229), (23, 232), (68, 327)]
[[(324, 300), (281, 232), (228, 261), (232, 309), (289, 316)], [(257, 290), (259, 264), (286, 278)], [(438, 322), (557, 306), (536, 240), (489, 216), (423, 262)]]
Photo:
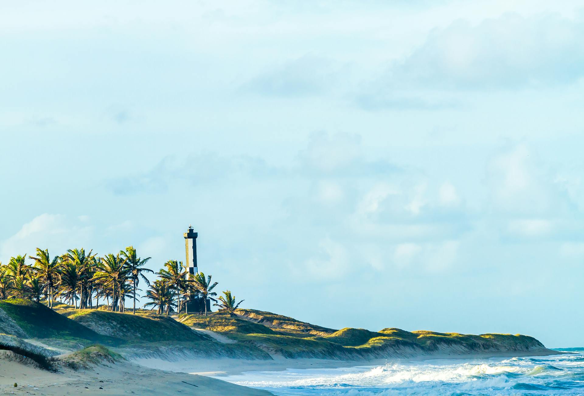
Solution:
[[(148, 285), (145, 294), (150, 303), (145, 306), (157, 307), (158, 314), (169, 315), (173, 308), (187, 312), (187, 303), (197, 301), (201, 311), (207, 313), (207, 302), (214, 301), (213, 291), (217, 282), (211, 283), (211, 276), (203, 273), (190, 274), (182, 262), (168, 260), (164, 268), (156, 274), (159, 279), (150, 284), (145, 273), (154, 273), (144, 265), (150, 257), (142, 259), (133, 246), (118, 253), (107, 253), (99, 257), (92, 250), (84, 248), (68, 249), (61, 256), (48, 253), (48, 249), (36, 249), (36, 256), (28, 256), (33, 265), (27, 265), (25, 255), (11, 257), (7, 265), (0, 263), (0, 300), (26, 298), (40, 302), (46, 300), (50, 308), (68, 303), (75, 309), (97, 309), (100, 298), (105, 298), (107, 310), (124, 312), (126, 299), (133, 300), (133, 314), (136, 313), (136, 297), (140, 280)], [(95, 305), (93, 304), (95, 300)], [(223, 303), (229, 303), (225, 300)], [(233, 311), (238, 304), (221, 305)]]

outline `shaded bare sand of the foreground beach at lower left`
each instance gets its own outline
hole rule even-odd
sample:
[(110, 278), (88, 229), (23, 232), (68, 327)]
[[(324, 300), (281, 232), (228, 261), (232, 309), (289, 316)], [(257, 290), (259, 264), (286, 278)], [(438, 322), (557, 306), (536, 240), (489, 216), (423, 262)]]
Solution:
[(91, 369), (64, 368), (60, 373), (50, 373), (7, 359), (0, 359), (0, 391), (17, 395), (271, 395), (215, 378), (148, 369), (129, 362), (106, 362)]

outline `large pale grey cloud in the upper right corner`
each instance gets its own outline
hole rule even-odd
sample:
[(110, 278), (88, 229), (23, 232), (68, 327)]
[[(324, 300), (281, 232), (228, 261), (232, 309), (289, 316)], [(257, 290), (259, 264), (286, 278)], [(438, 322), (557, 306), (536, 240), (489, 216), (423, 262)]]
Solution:
[(571, 84), (584, 76), (582, 18), (506, 13), (478, 25), (457, 20), (394, 62), (393, 87), (516, 89)]

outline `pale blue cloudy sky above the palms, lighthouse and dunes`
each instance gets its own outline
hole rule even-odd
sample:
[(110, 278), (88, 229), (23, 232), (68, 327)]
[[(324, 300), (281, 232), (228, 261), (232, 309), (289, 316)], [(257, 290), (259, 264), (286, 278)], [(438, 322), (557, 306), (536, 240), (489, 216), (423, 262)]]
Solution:
[(583, 37), (579, 1), (6, 2), (0, 261), (158, 270), (192, 224), (245, 308), (583, 346)]

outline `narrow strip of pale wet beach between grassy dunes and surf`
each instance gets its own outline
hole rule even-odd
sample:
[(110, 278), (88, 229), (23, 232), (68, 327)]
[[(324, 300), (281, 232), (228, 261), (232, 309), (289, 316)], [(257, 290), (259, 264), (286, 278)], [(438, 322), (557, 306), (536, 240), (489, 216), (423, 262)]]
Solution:
[(152, 369), (196, 374), (208, 377), (225, 377), (242, 374), (249, 371), (286, 371), (288, 369), (339, 369), (356, 366), (383, 366), (388, 362), (423, 362), (426, 360), (472, 360), (488, 359), (490, 357), (523, 357), (523, 356), (550, 356), (563, 355), (565, 352), (543, 349), (534, 351), (473, 353), (468, 355), (420, 355), (412, 357), (387, 357), (371, 360), (333, 360), (300, 358), (287, 359), (275, 356), (273, 360), (246, 360), (246, 359), (191, 359), (169, 362), (154, 357), (131, 359), (130, 362)]

